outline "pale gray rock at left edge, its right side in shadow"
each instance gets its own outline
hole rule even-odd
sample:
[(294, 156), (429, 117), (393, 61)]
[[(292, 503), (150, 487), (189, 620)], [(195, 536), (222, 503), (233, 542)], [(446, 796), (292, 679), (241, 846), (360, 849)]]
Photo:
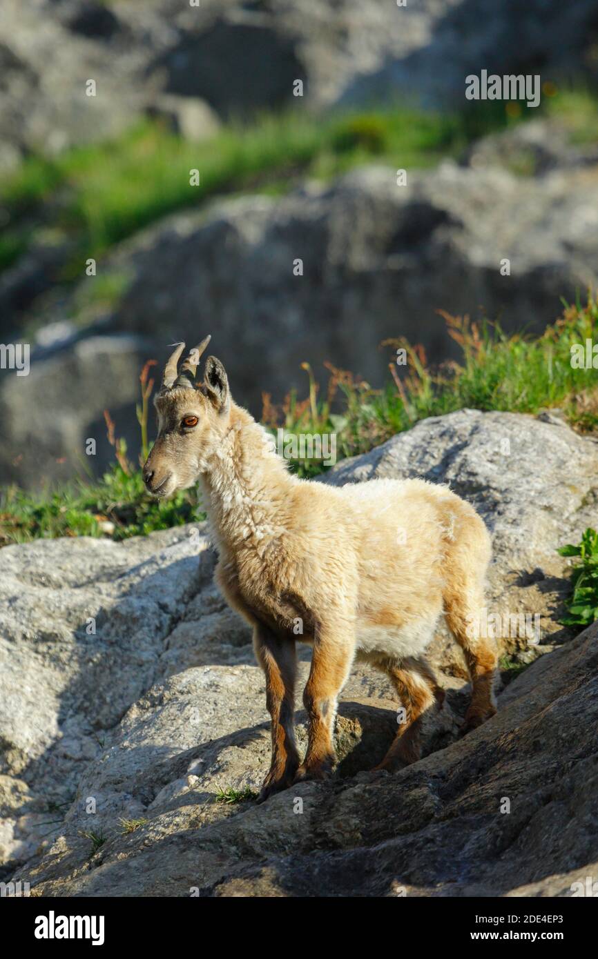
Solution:
[(123, 545), (40, 540), (0, 552), (0, 772), (46, 811), (72, 798), (106, 730), (160, 674), (206, 548), (190, 526)]

